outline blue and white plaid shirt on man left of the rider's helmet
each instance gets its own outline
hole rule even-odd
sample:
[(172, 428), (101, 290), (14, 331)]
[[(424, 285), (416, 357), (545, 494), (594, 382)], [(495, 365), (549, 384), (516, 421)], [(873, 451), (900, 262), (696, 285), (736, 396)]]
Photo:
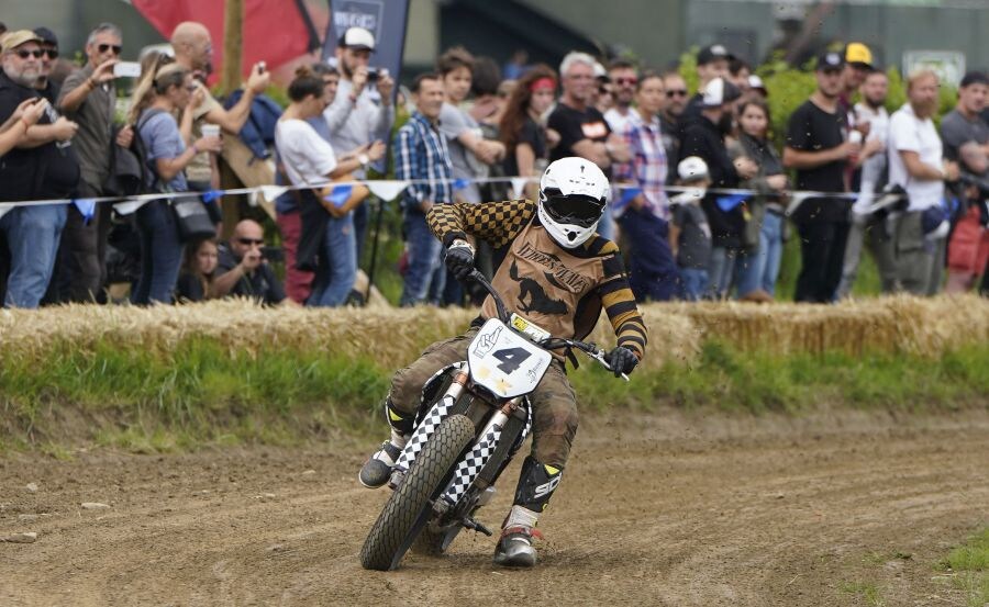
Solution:
[(453, 166), (446, 137), (429, 119), (414, 112), (399, 128), (393, 146), (395, 178), (429, 181), (409, 186), (402, 194), (402, 206), (419, 209), (426, 200), (434, 204), (453, 202)]

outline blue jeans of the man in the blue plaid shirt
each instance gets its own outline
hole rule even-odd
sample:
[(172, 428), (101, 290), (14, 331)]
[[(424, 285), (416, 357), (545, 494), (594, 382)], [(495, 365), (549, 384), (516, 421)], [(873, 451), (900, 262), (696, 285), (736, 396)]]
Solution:
[(427, 296), (430, 303), (437, 303), (446, 279), (446, 268), (441, 260), (443, 244), (433, 236), (420, 211), (405, 211), (402, 228), (409, 246), (409, 269), (400, 305), (423, 303)]

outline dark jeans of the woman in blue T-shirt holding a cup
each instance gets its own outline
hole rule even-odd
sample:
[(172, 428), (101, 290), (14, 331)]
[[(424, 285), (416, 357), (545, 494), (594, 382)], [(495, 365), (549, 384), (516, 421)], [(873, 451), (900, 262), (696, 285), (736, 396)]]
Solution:
[(164, 200), (153, 200), (137, 210), (137, 236), (141, 238), (141, 278), (131, 294), (138, 305), (170, 304), (179, 268), (182, 241), (175, 213)]

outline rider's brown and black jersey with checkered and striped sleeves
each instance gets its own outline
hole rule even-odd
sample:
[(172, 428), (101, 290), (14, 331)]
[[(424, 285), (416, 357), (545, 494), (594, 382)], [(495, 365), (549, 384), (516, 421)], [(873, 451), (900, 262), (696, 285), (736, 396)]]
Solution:
[[(536, 204), (527, 200), (436, 204), (426, 221), (444, 246), (469, 234), (503, 256), (492, 284), (511, 312), (555, 337), (584, 339), (603, 308), (618, 345), (642, 360), (645, 323), (629, 288), (621, 252), (611, 240), (596, 234), (577, 248), (563, 248), (540, 224)], [(497, 316), (490, 296), (481, 315)]]

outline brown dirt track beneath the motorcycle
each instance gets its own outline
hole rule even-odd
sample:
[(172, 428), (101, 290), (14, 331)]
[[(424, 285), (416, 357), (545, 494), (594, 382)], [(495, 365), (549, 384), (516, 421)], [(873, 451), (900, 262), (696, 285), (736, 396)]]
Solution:
[(613, 417), (582, 420), (521, 572), (473, 533), (363, 571), (370, 445), (0, 459), (0, 536), (38, 533), (0, 543), (0, 605), (964, 605), (933, 562), (989, 524), (985, 412)]

